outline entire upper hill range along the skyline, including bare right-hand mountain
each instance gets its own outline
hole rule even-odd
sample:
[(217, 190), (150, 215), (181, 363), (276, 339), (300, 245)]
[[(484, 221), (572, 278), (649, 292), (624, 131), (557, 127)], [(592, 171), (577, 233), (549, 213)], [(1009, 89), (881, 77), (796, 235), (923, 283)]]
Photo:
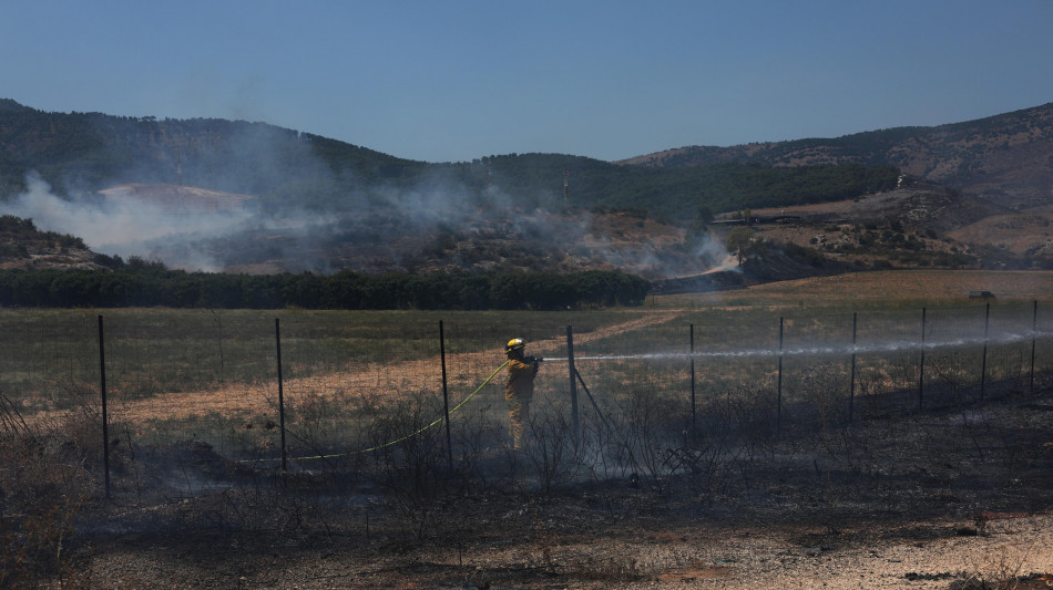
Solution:
[[(265, 208), (325, 209), (349, 196), (382, 200), (385, 192), (438, 186), (476, 198), (497, 189), (528, 208), (636, 208), (682, 218), (701, 206), (838, 200), (888, 189), (902, 172), (1024, 210), (1053, 194), (1051, 153), (1053, 103), (933, 127), (688, 146), (618, 163), (509, 154), (430, 164), (265, 123), (47, 113), (0, 99), (0, 199), (24, 192), (35, 172), (63, 196), (174, 184), (254, 195)], [(787, 192), (795, 203), (757, 203)]]

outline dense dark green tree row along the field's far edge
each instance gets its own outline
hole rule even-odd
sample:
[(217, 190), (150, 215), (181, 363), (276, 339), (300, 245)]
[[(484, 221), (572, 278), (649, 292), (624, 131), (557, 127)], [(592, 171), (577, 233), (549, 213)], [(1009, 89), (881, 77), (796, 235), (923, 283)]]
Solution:
[(638, 306), (648, 287), (646, 280), (618, 271), (249, 276), (132, 265), (112, 271), (0, 271), (0, 306), (560, 310)]

